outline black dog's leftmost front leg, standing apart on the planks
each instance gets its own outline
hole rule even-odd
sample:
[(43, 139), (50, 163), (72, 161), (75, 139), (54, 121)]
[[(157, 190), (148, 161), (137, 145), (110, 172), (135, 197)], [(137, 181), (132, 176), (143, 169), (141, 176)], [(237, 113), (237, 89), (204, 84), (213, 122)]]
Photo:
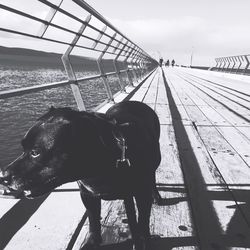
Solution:
[(94, 249), (102, 242), (100, 223), (101, 199), (86, 195), (83, 192), (81, 192), (81, 198), (89, 218), (89, 235), (81, 249)]

